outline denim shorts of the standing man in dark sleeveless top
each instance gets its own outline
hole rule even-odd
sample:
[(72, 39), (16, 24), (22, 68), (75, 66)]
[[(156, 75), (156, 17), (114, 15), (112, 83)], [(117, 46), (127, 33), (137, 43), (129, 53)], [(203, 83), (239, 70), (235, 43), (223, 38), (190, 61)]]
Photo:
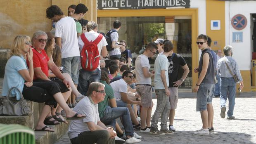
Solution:
[(213, 97), (214, 84), (201, 83), (197, 91), (197, 111), (207, 109), (207, 104), (211, 104)]

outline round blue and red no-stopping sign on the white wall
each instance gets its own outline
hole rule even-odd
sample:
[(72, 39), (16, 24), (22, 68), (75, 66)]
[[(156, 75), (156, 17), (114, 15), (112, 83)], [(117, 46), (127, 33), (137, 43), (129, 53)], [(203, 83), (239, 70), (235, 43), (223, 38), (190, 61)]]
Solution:
[(242, 14), (237, 14), (231, 19), (231, 24), (236, 30), (242, 30), (247, 25), (247, 19)]

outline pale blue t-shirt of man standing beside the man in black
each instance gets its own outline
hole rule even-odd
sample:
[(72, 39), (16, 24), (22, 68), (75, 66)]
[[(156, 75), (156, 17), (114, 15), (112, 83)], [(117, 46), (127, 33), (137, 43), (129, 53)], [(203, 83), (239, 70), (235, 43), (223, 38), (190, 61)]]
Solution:
[(168, 62), (168, 59), (164, 54), (161, 54), (158, 57), (156, 57), (155, 64), (154, 64), (155, 89), (164, 89), (164, 84), (163, 84), (163, 81), (162, 81), (162, 78), (161, 78), (161, 70), (165, 70), (167, 87), (169, 86), (169, 77), (168, 77), (168, 66), (169, 65), (170, 65), (170, 63)]

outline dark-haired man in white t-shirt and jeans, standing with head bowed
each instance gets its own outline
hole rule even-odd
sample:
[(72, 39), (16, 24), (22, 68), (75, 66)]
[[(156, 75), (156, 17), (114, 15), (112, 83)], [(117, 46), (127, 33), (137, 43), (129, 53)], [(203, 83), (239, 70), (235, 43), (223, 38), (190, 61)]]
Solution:
[(46, 9), (46, 17), (56, 23), (56, 45), (62, 51), (63, 72), (68, 73), (74, 84), (78, 85), (78, 64), (80, 52), (76, 34), (76, 22), (71, 17), (66, 17), (57, 5)]

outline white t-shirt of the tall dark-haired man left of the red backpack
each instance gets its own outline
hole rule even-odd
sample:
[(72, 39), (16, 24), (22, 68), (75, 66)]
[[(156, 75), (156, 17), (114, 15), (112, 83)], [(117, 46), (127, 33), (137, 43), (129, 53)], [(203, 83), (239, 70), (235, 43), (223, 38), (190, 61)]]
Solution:
[(71, 17), (60, 19), (55, 29), (55, 37), (62, 38), (62, 59), (80, 56), (74, 19)]

